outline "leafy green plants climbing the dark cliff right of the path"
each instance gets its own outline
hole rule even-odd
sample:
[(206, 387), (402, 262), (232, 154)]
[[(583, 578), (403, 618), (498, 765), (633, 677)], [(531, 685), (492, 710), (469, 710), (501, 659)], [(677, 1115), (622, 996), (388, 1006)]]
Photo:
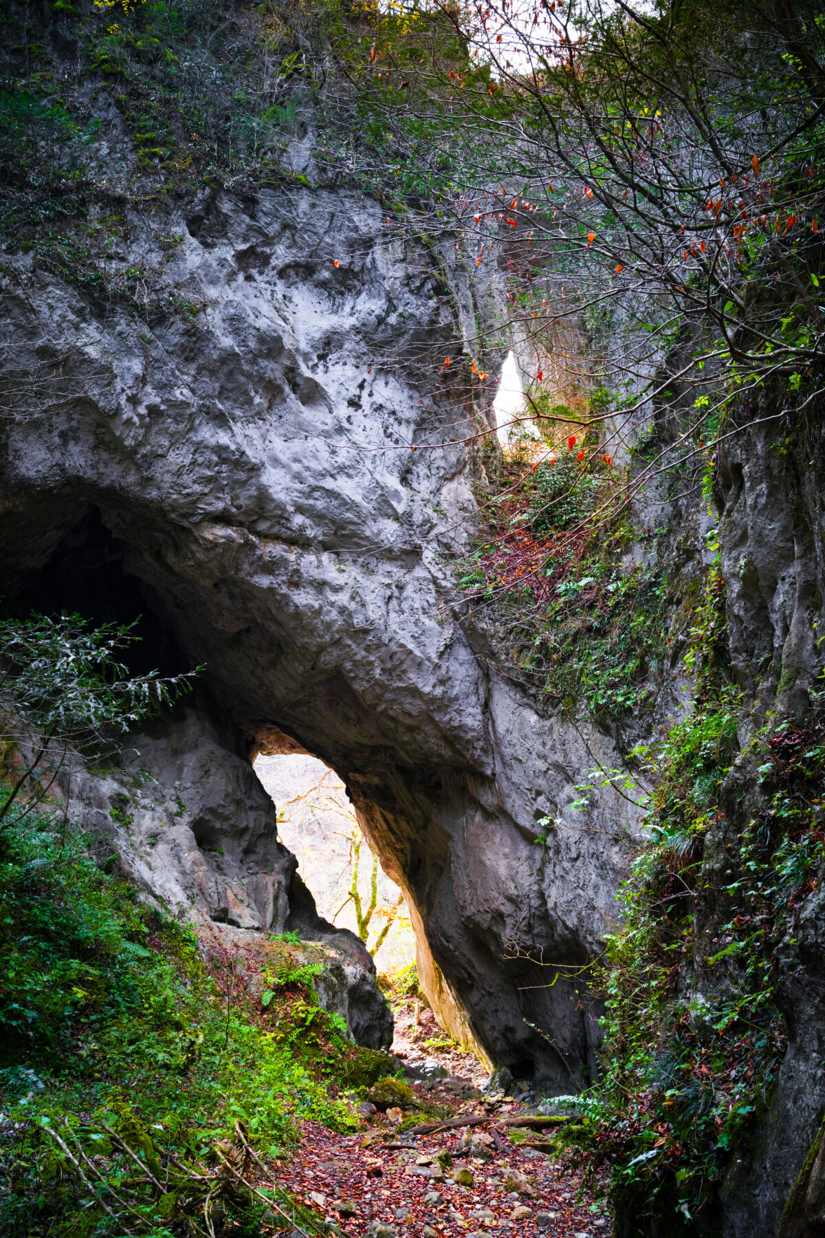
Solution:
[(764, 1113), (784, 1052), (778, 953), (825, 864), (825, 728), (772, 718), (743, 753), (717, 569), (694, 615), (690, 718), (641, 753), (648, 842), (594, 983), (604, 1078), (570, 1098), (559, 1151), (611, 1165), (623, 1236), (711, 1236), (732, 1150)]

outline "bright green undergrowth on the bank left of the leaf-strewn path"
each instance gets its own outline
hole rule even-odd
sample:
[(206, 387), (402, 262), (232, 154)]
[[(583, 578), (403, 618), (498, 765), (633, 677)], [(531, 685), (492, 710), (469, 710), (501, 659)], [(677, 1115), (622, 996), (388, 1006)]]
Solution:
[(313, 968), (250, 998), (51, 816), (5, 817), (0, 890), (0, 1232), (317, 1228), (256, 1180), (298, 1119), (351, 1129), (341, 1093), (387, 1058), (320, 1010)]

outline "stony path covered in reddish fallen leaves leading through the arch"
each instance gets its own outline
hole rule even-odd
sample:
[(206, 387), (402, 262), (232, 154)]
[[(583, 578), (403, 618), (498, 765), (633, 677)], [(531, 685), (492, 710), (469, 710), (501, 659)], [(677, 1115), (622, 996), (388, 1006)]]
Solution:
[[(507, 1123), (536, 1114), (536, 1106), (502, 1093), (482, 1094), (477, 1084), (486, 1078), (484, 1067), (444, 1041), (432, 1011), (419, 1010), (417, 1024), (414, 1003), (407, 1002), (395, 1014), (393, 1052), (407, 1065), (435, 1058), (450, 1072), (440, 1080), (409, 1080), (417, 1099), (449, 1109), (453, 1119), (466, 1118), (468, 1125), (400, 1133), (391, 1117), (376, 1112), (365, 1115), (361, 1133), (336, 1134), (304, 1122), (301, 1144), (271, 1185), (348, 1238), (484, 1238), (489, 1232), (609, 1238), (606, 1171), (604, 1179), (585, 1182), (584, 1170), (531, 1146), (542, 1141), (541, 1133), (508, 1133)], [(432, 1120), (422, 1118), (421, 1124)], [(524, 1141), (515, 1141), (519, 1139)], [(445, 1151), (453, 1165), (442, 1169), (437, 1158)], [(469, 1170), (469, 1185), (453, 1180), (461, 1170)]]

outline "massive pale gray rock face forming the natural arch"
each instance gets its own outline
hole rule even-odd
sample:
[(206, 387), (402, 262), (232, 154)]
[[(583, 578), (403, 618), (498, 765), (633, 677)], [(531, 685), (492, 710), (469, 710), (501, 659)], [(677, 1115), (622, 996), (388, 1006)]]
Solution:
[(613, 920), (627, 822), (612, 800), (570, 807), (591, 753), (616, 764), (611, 743), (537, 712), (449, 605), (442, 553), (477, 472), (451, 439), (487, 416), (461, 385), (480, 293), (451, 292), (429, 250), (381, 239), (378, 207), (346, 194), (207, 197), (163, 220), (171, 251), (151, 220), (130, 227), (130, 258), (167, 253), (204, 305), (193, 323), (150, 329), (26, 256), (0, 271), (22, 392), (2, 426), (2, 592), (20, 610), (142, 614), (147, 665), (205, 665), (200, 721), (136, 737), (135, 769), (184, 808), (132, 813), (129, 864), (176, 909), (249, 930), (312, 919), (246, 764), (312, 751), (408, 895), (447, 1026), (517, 1075), (580, 1086), (595, 1013), (547, 985)]

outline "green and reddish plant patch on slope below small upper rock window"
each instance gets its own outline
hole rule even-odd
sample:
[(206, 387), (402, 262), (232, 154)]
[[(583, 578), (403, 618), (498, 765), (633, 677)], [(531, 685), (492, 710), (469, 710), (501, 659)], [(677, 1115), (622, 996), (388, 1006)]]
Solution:
[(532, 465), (532, 449), (508, 454), (460, 587), (502, 662), (545, 699), (570, 711), (584, 701), (601, 719), (642, 711), (668, 650), (668, 569), (656, 557), (627, 566), (628, 520), (592, 520), (618, 477), (566, 447)]

